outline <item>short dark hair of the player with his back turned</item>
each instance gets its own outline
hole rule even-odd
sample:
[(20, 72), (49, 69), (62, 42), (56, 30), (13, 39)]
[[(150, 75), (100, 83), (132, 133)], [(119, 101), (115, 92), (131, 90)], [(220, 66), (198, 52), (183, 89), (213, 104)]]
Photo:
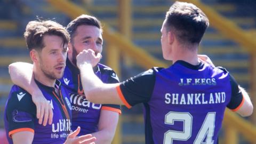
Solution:
[(194, 4), (175, 2), (166, 12), (165, 27), (172, 30), (180, 43), (199, 44), (209, 27), (209, 20)]

